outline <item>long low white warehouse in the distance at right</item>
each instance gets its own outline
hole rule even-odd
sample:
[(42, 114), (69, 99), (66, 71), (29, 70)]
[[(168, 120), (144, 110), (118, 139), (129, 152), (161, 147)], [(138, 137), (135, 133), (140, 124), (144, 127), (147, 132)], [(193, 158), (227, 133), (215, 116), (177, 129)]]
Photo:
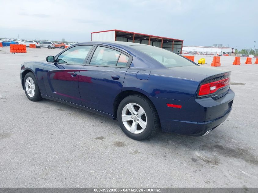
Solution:
[(235, 53), (234, 48), (218, 46), (183, 46), (183, 54), (231, 54)]

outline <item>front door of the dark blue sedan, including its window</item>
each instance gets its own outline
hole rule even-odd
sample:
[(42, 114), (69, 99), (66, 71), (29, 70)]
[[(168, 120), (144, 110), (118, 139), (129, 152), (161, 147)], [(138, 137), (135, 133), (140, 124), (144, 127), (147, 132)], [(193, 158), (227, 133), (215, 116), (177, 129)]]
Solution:
[(82, 105), (78, 77), (93, 45), (77, 45), (61, 52), (54, 63), (44, 66), (44, 84), (48, 96)]

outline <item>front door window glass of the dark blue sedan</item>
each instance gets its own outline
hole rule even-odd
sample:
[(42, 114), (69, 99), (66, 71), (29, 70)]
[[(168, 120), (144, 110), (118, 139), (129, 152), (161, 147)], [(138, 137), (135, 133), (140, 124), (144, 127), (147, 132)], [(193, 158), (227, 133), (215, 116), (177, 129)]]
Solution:
[(60, 54), (56, 60), (58, 63), (84, 65), (84, 60), (88, 55), (92, 45), (80, 45), (70, 48)]

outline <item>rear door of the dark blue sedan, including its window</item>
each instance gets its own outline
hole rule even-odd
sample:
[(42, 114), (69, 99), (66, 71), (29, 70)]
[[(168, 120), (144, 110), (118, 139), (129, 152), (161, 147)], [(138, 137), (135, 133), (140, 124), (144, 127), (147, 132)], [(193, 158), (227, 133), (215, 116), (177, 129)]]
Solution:
[(113, 114), (113, 102), (122, 91), (132, 56), (119, 49), (96, 45), (79, 73), (82, 105)]

